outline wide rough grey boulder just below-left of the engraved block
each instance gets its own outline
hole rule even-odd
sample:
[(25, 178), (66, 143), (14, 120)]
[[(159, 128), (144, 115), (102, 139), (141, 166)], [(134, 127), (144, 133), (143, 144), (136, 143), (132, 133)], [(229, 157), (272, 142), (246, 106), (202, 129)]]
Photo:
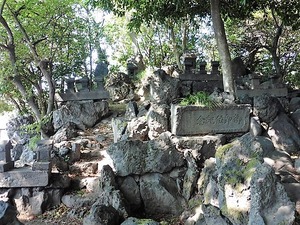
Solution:
[(109, 147), (108, 154), (118, 176), (165, 173), (184, 164), (183, 156), (175, 146), (162, 140), (119, 141)]

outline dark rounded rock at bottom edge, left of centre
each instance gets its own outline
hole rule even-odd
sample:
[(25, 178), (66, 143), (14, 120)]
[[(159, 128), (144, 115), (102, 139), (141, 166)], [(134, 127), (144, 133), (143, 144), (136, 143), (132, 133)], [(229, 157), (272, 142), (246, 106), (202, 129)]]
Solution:
[(118, 211), (112, 206), (93, 205), (90, 214), (83, 219), (83, 225), (119, 225)]

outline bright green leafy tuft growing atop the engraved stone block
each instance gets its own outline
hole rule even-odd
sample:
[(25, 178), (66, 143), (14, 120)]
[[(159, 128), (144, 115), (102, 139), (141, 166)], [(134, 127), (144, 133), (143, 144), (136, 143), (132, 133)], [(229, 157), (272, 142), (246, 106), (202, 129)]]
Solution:
[(208, 107), (210, 109), (214, 109), (221, 106), (221, 103), (212, 100), (208, 93), (204, 91), (197, 92), (195, 94), (190, 94), (187, 97), (183, 98), (179, 105), (188, 106), (188, 105), (196, 105), (201, 107)]

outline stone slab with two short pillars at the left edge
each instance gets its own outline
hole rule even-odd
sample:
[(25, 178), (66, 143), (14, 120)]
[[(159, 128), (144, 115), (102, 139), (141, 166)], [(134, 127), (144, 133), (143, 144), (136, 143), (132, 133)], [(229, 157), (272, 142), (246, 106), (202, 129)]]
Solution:
[(33, 167), (14, 168), (10, 157), (10, 142), (0, 146), (0, 188), (44, 187), (48, 185), (51, 163), (50, 152), (53, 144), (42, 141), (38, 144), (37, 160)]

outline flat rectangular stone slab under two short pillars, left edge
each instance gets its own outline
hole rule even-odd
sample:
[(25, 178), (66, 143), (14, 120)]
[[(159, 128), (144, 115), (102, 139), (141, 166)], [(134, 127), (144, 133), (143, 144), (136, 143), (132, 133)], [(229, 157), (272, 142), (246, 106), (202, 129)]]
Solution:
[(0, 173), (0, 188), (44, 187), (49, 183), (48, 171), (32, 171), (31, 167), (14, 168)]

